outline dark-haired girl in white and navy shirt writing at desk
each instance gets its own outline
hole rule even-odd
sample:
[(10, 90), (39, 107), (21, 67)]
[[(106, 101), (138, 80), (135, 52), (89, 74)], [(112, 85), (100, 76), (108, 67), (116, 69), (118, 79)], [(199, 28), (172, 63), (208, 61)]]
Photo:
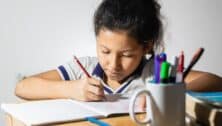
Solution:
[[(103, 0), (94, 15), (97, 58), (80, 58), (91, 77), (72, 60), (23, 79), (15, 94), (82, 101), (102, 100), (110, 93), (131, 94), (153, 79), (153, 55), (162, 45), (162, 28), (155, 0)], [(192, 71), (185, 82), (188, 90), (222, 90), (222, 79), (211, 73)]]

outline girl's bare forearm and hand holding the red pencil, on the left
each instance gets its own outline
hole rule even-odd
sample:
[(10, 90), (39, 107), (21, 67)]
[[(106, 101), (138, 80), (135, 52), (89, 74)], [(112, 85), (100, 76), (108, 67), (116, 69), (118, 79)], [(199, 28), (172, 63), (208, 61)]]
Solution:
[(93, 78), (64, 81), (56, 70), (21, 80), (15, 94), (29, 100), (73, 98), (82, 101), (101, 100), (104, 93), (100, 82)]

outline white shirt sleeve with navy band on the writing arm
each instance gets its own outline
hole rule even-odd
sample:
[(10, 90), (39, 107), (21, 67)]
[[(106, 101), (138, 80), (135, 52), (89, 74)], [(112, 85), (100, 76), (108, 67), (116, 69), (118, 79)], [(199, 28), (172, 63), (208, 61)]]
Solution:
[[(98, 63), (96, 57), (81, 57), (79, 58), (79, 61), (89, 74), (92, 73)], [(77, 80), (86, 76), (74, 60), (58, 66), (56, 70), (63, 80)]]

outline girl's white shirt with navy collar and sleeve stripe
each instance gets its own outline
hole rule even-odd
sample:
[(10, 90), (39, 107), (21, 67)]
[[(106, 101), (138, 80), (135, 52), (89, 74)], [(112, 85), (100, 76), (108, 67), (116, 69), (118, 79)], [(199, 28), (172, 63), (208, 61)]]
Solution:
[[(104, 71), (98, 63), (96, 57), (81, 57), (79, 58), (81, 64), (86, 68), (86, 70), (91, 73), (93, 77), (100, 80), (103, 79)], [(61, 78), (63, 80), (77, 80), (85, 77), (85, 74), (80, 69), (76, 62), (69, 61), (57, 68)], [(138, 68), (131, 74), (131, 76), (121, 84), (121, 86), (115, 90), (110, 88), (107, 84), (104, 84), (104, 91), (106, 94), (131, 94), (133, 91), (143, 88), (146, 82), (153, 79), (153, 59), (143, 59), (138, 66)]]

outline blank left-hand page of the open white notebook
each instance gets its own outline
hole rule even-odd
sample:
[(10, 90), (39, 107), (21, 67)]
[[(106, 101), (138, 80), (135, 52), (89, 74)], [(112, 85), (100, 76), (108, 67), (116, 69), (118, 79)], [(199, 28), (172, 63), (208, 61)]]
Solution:
[(69, 99), (43, 100), (20, 104), (2, 104), (2, 109), (26, 125), (82, 120), (87, 116), (100, 114), (88, 111)]

